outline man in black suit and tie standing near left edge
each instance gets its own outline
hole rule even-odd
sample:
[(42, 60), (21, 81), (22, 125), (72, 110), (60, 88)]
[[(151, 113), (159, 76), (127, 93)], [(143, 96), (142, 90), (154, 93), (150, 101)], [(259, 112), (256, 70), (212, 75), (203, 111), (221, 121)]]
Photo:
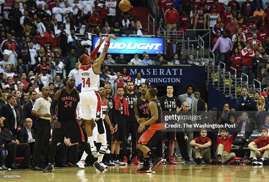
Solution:
[[(8, 103), (2, 107), (2, 116), (5, 117), (5, 128), (12, 132), (12, 136), (17, 134), (17, 126), (20, 125), (17, 120), (17, 109), (16, 109), (16, 97), (14, 94), (8, 94)], [(15, 106), (15, 107), (14, 107)]]

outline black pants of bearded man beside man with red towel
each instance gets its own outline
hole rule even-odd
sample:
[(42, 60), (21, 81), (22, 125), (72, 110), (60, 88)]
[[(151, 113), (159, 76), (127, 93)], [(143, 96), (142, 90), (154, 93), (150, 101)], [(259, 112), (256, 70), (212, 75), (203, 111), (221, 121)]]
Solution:
[(132, 153), (131, 153), (132, 157), (131, 157), (131, 160), (132, 160), (133, 158), (135, 158), (137, 156), (136, 133), (137, 133), (139, 124), (137, 123), (137, 121), (126, 121), (125, 127), (126, 127), (126, 141), (122, 142), (122, 154), (123, 154), (123, 156), (126, 156), (127, 141), (128, 141), (129, 134), (131, 134), (131, 136), (132, 136)]

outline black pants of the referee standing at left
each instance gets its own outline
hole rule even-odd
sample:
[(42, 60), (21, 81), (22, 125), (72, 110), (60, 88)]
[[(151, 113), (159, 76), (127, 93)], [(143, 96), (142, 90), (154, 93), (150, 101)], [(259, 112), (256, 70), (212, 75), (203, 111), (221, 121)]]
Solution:
[(48, 152), (49, 139), (51, 138), (51, 124), (49, 120), (39, 118), (36, 121), (36, 141), (34, 145), (34, 166), (43, 166)]

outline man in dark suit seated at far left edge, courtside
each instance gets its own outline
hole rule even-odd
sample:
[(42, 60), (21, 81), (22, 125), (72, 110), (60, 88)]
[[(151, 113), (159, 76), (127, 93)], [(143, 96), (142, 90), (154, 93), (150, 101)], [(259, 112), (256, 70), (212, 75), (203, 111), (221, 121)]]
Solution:
[(30, 146), (28, 143), (20, 143), (14, 136), (11, 135), (11, 131), (4, 128), (4, 122), (0, 118), (1, 123), (1, 135), (3, 144), (8, 150), (6, 158), (7, 167), (10, 169), (18, 169), (16, 166), (16, 155), (23, 157), (23, 168), (30, 169)]

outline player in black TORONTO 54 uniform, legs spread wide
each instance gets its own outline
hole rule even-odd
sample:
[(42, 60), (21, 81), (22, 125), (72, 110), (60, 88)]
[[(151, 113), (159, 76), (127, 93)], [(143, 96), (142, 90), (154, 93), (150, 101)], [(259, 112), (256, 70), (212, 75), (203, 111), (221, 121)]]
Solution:
[[(56, 152), (56, 146), (58, 143), (62, 143), (65, 139), (65, 134), (70, 136), (70, 142), (78, 142), (84, 150), (90, 154), (91, 160), (94, 162), (95, 158), (91, 155), (90, 146), (85, 142), (82, 129), (79, 122), (76, 119), (76, 109), (79, 102), (79, 92), (73, 87), (75, 86), (75, 78), (68, 77), (66, 80), (66, 88), (58, 90), (51, 102), (50, 113), (52, 115), (52, 123), (54, 127), (52, 129), (51, 146), (49, 148), (49, 164), (43, 172), (54, 171), (54, 155)], [(55, 117), (55, 107), (58, 107), (58, 118)], [(99, 164), (95, 166), (100, 171), (104, 170), (104, 167)]]

